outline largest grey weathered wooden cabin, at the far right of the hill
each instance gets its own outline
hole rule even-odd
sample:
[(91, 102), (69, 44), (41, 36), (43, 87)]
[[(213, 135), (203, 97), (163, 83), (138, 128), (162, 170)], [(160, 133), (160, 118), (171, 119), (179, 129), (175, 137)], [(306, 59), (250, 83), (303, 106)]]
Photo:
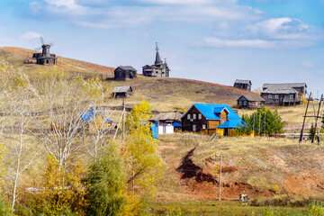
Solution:
[(265, 84), (262, 88), (261, 96), (266, 100), (266, 105), (301, 104), (307, 93), (305, 83)]

